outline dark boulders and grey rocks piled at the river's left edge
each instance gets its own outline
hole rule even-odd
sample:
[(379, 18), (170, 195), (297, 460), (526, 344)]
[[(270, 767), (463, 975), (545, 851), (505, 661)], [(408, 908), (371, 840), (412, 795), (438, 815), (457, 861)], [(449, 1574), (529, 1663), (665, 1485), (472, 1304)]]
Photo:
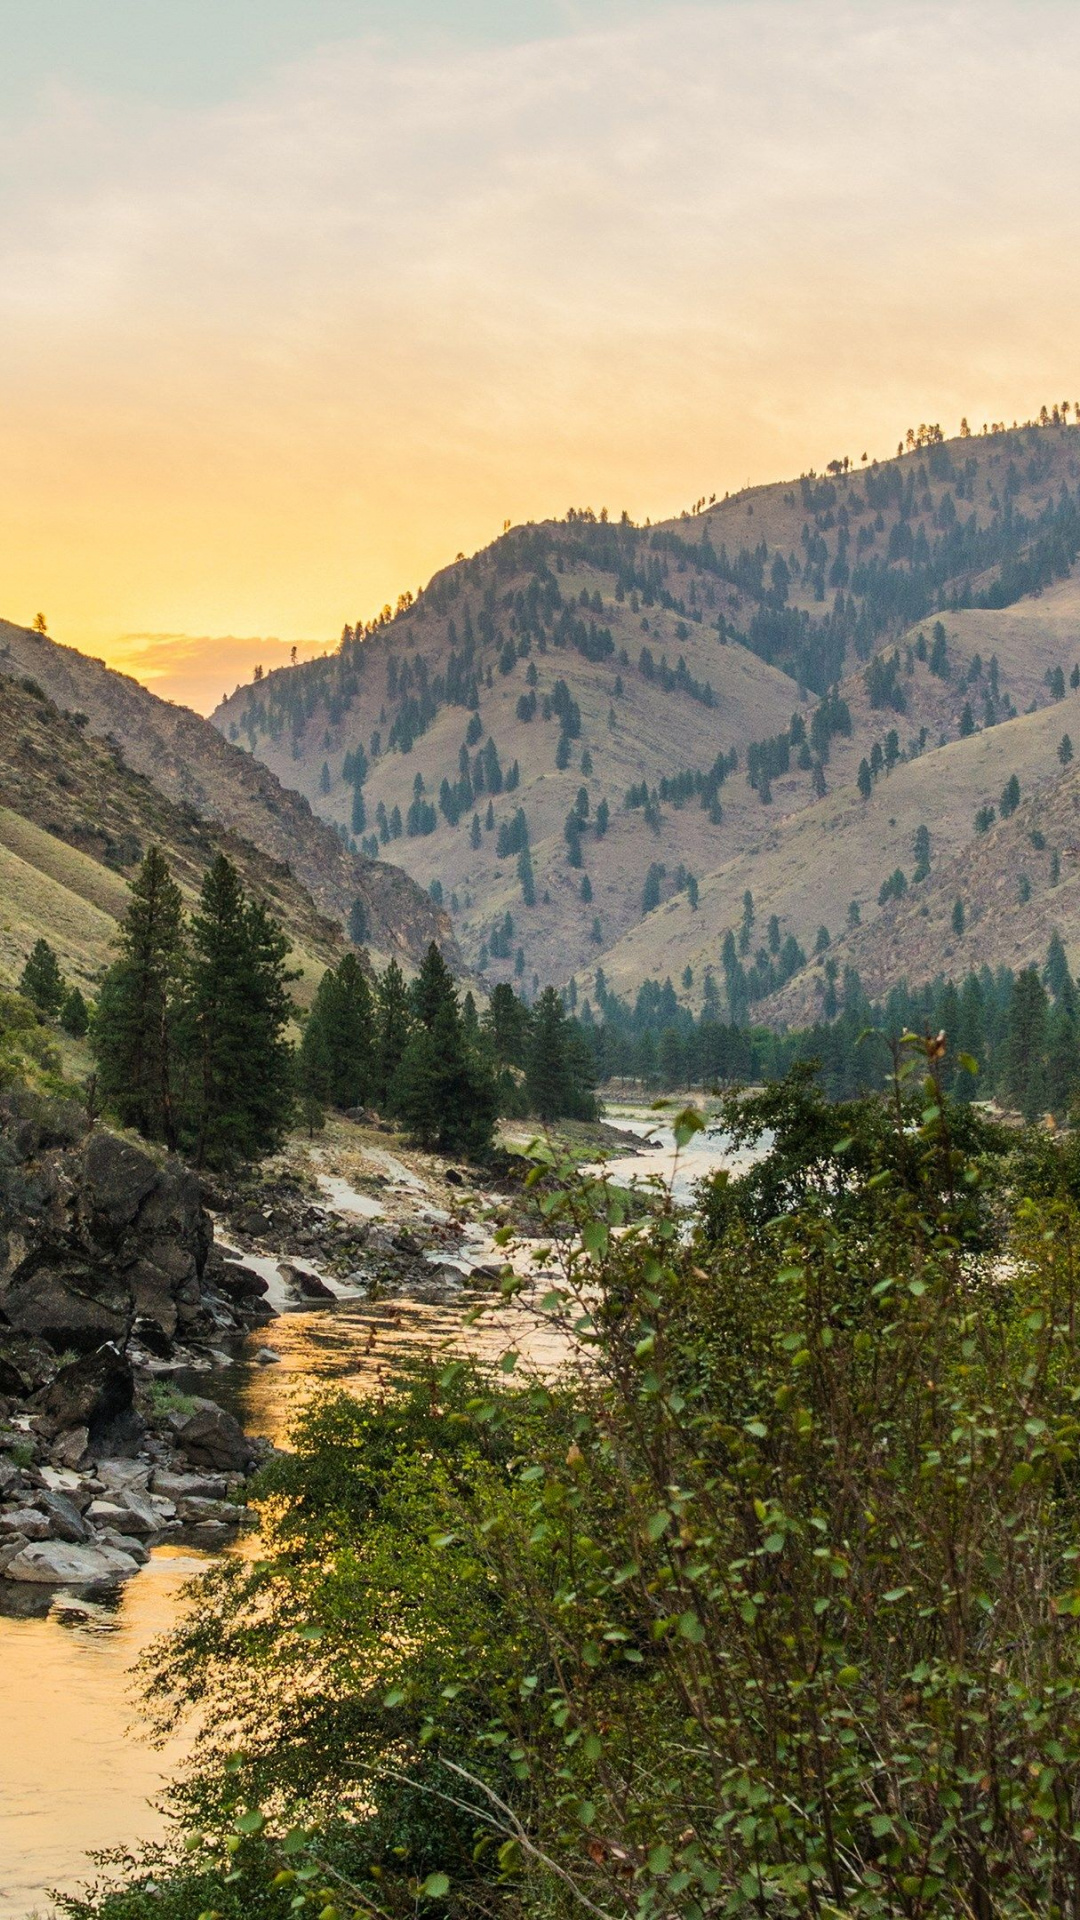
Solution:
[(119, 1578), (148, 1542), (242, 1521), (265, 1455), (158, 1369), (271, 1319), (213, 1242), (198, 1179), (44, 1102), (0, 1106), (0, 1574)]

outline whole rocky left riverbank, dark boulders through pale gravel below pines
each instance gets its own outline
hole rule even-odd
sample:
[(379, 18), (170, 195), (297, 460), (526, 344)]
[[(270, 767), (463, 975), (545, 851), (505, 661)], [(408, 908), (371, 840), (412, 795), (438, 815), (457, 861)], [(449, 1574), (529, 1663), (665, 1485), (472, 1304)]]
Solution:
[(371, 1116), (227, 1185), (0, 1100), (0, 1576), (90, 1586), (158, 1540), (225, 1544), (269, 1442), (173, 1377), (227, 1367), (290, 1308), (490, 1286), (490, 1229), (528, 1231), (521, 1200), (515, 1156), (479, 1173)]

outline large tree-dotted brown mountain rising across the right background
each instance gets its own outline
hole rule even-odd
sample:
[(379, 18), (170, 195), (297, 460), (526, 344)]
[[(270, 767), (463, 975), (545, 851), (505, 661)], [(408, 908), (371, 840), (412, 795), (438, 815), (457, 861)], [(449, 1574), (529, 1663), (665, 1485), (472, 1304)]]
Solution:
[[(1019, 829), (976, 831), (980, 808), (1013, 776), (1024, 804), (1072, 783), (1057, 753), (1070, 726), (1080, 751), (1080, 430), (922, 440), (663, 526), (578, 511), (509, 530), (211, 718), (442, 891), (492, 983), (592, 993), (601, 966), (621, 993), (671, 975), (700, 1006), (711, 973), (723, 1000), (748, 893), (742, 964), (773, 1020), (819, 1004), (826, 958), (874, 954), (878, 985), (1034, 958), (1047, 916), (1080, 956), (1049, 839), (992, 920), (969, 889), (963, 954), (930, 939), (930, 897), (955, 889), (951, 914), (963, 862), (1013, 847)], [(932, 881), (913, 883), (919, 828)], [(878, 902), (896, 870), (901, 906)]]

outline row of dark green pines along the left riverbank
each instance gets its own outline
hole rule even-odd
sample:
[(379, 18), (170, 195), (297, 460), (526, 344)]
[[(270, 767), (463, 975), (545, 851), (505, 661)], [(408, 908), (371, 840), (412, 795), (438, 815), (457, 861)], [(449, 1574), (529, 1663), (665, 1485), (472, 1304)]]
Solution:
[(594, 1116), (592, 1050), (553, 989), (528, 1008), (500, 987), (480, 1018), (434, 943), (411, 985), (394, 960), (369, 977), (350, 950), (302, 1014), (288, 958), (281, 924), (223, 854), (186, 916), (152, 847), (96, 1006), (65, 985), (46, 941), (21, 991), (71, 1033), (88, 1025), (92, 1098), (196, 1165), (273, 1152), (298, 1119), (315, 1131), (331, 1108), (371, 1108), (425, 1146), (477, 1156), (500, 1114)]

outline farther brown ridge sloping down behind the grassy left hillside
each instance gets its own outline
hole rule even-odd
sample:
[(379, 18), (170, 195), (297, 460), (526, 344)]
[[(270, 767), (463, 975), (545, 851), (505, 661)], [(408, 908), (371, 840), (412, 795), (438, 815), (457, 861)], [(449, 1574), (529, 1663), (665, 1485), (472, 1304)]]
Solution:
[(288, 868), (319, 914), (342, 927), (361, 900), (369, 945), (377, 958), (396, 954), (415, 966), (430, 939), (461, 968), (452, 927), (430, 899), (400, 868), (365, 860), (307, 803), (254, 760), (238, 753), (186, 707), (173, 707), (73, 647), (44, 634), (0, 622), (0, 703), (15, 699), (12, 682), (29, 678), (67, 714), (81, 714), (85, 732), (115, 743), (123, 762), (158, 793), (204, 822), (219, 822)]

